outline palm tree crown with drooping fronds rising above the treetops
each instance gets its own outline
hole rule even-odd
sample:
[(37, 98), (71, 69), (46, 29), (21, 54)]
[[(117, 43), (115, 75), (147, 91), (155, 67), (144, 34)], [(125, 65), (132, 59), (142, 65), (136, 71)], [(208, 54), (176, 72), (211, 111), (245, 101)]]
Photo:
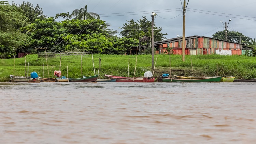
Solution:
[(75, 17), (74, 19), (79, 19), (79, 20), (85, 20), (85, 19), (100, 19), (100, 16), (96, 13), (93, 12), (87, 12), (87, 5), (82, 7), (80, 10), (75, 9), (72, 14), (70, 15), (71, 17)]

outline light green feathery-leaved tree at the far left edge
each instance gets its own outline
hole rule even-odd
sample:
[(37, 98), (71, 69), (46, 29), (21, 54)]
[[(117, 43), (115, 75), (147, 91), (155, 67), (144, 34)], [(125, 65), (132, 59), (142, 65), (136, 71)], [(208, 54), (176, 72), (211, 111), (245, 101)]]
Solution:
[(7, 1), (0, 1), (0, 53), (14, 54), (28, 44), (30, 38), (19, 31), (26, 24), (24, 19)]

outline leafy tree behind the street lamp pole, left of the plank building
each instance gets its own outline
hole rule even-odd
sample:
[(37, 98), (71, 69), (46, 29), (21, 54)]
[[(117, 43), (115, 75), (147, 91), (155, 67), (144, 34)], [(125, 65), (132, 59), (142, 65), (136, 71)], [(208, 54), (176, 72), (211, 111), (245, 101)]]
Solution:
[[(139, 37), (143, 36), (151, 37), (152, 21), (147, 20), (145, 16), (137, 20), (137, 22), (133, 19), (127, 22), (128, 23), (123, 24), (123, 27), (120, 27), (120, 29), (123, 29), (120, 32), (121, 36), (133, 39), (139, 39)], [(161, 31), (162, 28), (156, 27), (154, 23), (154, 41), (166, 39), (164, 36), (167, 35), (167, 33), (163, 34)]]

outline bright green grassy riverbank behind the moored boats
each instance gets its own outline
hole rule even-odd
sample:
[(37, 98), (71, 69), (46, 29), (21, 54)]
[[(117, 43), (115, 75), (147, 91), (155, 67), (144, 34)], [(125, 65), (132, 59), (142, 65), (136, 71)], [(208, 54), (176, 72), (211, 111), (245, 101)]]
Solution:
[[(162, 73), (169, 73), (169, 55), (155, 55), (156, 69), (154, 76)], [(136, 62), (136, 55), (93, 55), (95, 73), (98, 74), (99, 58), (101, 58), (100, 78), (104, 74), (128, 76), (128, 60), (130, 59), (129, 76), (133, 77)], [(186, 55), (185, 62), (182, 62), (181, 55), (171, 55), (172, 75), (191, 76), (216, 76), (218, 65), (218, 76), (235, 76), (236, 79), (256, 78), (256, 57), (246, 56), (223, 56), (223, 55), (192, 55), (193, 73), (191, 68), (190, 55)], [(53, 71), (59, 70), (60, 57), (48, 58), (48, 69), (45, 58), (38, 58), (37, 55), (27, 55), (27, 65), (29, 63), (29, 76), (32, 71), (36, 71), (40, 77), (54, 77)], [(43, 74), (44, 64), (44, 74)], [(63, 76), (79, 78), (94, 75), (94, 68), (91, 55), (83, 56), (83, 66), (81, 74), (81, 56), (62, 56), (61, 71)], [(26, 67), (26, 73), (27, 73)], [(143, 76), (144, 71), (151, 70), (151, 55), (138, 55), (136, 75)], [(8, 81), (9, 75), (25, 75), (25, 57), (15, 59), (0, 60), (0, 81)]]

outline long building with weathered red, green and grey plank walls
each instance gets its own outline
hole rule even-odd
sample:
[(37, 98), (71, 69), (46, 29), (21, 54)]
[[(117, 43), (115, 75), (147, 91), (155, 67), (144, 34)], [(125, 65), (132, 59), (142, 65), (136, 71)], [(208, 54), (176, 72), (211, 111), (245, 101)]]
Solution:
[[(221, 54), (221, 55), (243, 55), (244, 51), (251, 48), (245, 47), (244, 44), (223, 41), (205, 36), (189, 36), (185, 37), (186, 48), (185, 54)], [(154, 42), (157, 47), (156, 53), (167, 51), (166, 48), (172, 48), (174, 54), (182, 54), (182, 37), (166, 39)]]

